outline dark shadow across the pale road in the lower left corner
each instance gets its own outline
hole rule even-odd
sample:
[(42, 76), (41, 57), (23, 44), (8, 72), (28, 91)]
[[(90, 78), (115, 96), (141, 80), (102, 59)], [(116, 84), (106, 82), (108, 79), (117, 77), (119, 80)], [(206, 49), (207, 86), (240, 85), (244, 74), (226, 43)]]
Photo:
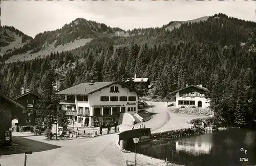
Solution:
[(19, 154), (25, 153), (26, 151), (41, 152), (61, 148), (57, 145), (42, 143), (23, 137), (13, 137), (12, 143), (12, 146), (0, 148), (0, 155)]

